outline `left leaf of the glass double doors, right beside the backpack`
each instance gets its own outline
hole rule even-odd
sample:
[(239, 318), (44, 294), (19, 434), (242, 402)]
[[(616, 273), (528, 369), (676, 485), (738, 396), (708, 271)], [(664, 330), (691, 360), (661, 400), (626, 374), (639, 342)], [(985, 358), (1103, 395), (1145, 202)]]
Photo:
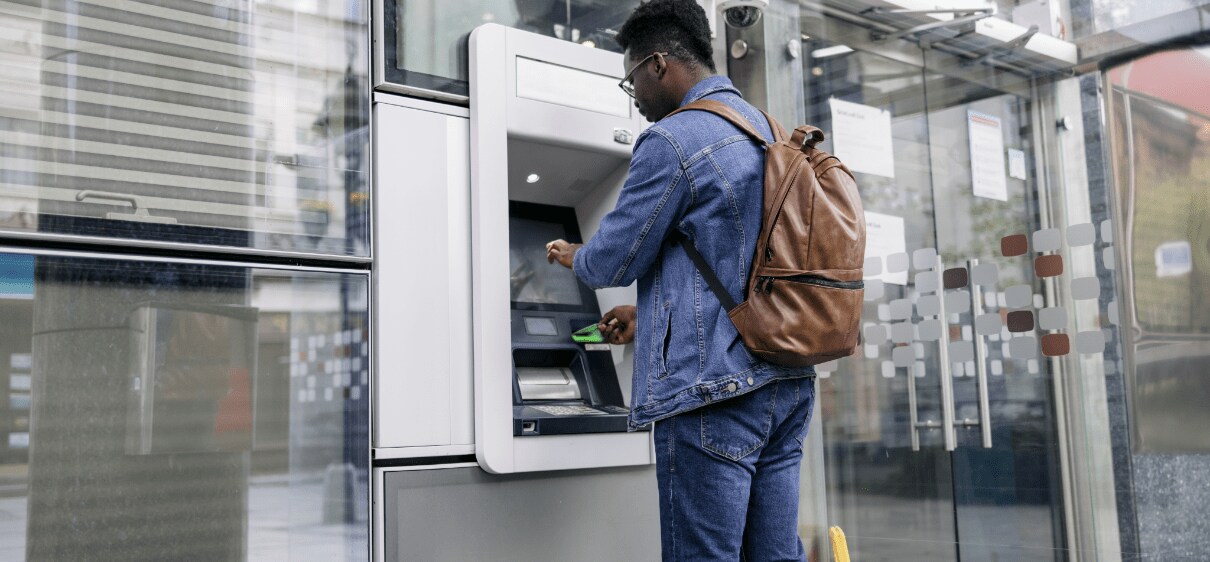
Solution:
[[(843, 45), (814, 41), (803, 51), (807, 121), (835, 131), (834, 115), (889, 120), (893, 149), (889, 167), (846, 162), (862, 189), (869, 231), (892, 259), (871, 258), (866, 266), (863, 352), (835, 373), (820, 367), (829, 523), (848, 534), (854, 560), (957, 560), (950, 454), (940, 431), (914, 437), (910, 428), (912, 407), (922, 424), (940, 426), (943, 414), (939, 349), (915, 343), (909, 322), (911, 300), (921, 297), (911, 257), (921, 251), (927, 258), (923, 251), (937, 246), (924, 75)], [(834, 136), (824, 150), (848, 140)]]

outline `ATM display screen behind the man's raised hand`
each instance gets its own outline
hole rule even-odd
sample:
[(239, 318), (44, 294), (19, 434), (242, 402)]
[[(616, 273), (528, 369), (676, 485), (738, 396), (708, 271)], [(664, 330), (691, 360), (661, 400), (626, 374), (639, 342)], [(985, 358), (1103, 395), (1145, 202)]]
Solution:
[(508, 271), (514, 303), (583, 304), (576, 274), (546, 262), (546, 243), (569, 237), (563, 224), (509, 217), (508, 231)]

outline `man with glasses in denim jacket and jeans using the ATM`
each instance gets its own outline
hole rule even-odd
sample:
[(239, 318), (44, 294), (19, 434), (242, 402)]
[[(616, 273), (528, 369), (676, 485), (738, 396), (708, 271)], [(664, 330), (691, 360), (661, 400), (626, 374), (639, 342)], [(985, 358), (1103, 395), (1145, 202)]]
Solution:
[[(638, 281), (638, 306), (601, 319), (611, 343), (635, 344), (630, 426), (655, 422), (666, 561), (805, 560), (799, 465), (814, 371), (765, 363), (682, 248), (680, 231), (743, 300), (764, 199), (764, 150), (705, 111), (715, 99), (772, 138), (768, 122), (714, 74), (710, 29), (693, 0), (651, 0), (622, 25), (621, 86), (647, 121), (616, 208), (586, 245), (557, 240), (547, 259), (588, 286)], [(664, 119), (668, 116), (667, 119)]]

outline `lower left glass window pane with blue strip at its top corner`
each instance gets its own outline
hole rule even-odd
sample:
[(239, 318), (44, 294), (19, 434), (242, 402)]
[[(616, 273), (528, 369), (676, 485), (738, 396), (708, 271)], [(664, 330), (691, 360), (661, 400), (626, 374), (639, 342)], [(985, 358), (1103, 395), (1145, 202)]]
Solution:
[(368, 558), (365, 276), (0, 264), (0, 560)]

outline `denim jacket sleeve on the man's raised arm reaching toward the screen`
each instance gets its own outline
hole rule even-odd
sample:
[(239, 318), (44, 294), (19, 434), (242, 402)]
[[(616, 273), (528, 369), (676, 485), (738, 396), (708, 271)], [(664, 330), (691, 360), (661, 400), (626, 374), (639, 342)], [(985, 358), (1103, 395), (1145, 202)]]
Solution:
[(662, 132), (649, 128), (635, 143), (617, 205), (576, 252), (576, 276), (592, 288), (630, 285), (659, 258), (664, 240), (691, 201), (692, 187), (680, 154)]

